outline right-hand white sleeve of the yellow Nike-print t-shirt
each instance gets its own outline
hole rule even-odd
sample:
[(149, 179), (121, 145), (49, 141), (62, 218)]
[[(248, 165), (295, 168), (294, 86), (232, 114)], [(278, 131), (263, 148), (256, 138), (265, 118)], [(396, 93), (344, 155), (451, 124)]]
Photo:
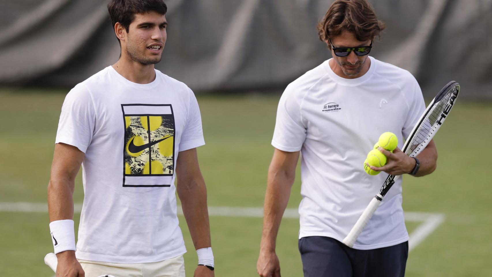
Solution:
[(200, 108), (198, 107), (195, 94), (190, 91), (188, 120), (181, 135), (179, 151), (192, 149), (204, 144)]

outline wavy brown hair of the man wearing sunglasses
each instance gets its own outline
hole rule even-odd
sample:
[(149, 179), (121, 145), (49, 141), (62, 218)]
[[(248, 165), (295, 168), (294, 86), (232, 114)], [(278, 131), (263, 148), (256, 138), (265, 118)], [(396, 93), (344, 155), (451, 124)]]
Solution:
[(319, 39), (324, 42), (342, 31), (353, 33), (360, 41), (374, 40), (384, 28), (367, 0), (336, 0), (317, 26)]

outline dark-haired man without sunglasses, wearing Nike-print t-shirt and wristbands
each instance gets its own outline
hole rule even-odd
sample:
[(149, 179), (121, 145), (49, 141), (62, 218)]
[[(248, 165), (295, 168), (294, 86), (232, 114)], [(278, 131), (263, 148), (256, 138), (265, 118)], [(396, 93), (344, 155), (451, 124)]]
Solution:
[[(198, 103), (186, 85), (154, 69), (167, 6), (111, 0), (108, 10), (121, 57), (67, 94), (58, 126), (48, 185), (57, 276), (184, 277), (177, 190), (198, 254), (194, 276), (213, 277)], [(81, 165), (75, 246), (72, 193)]]

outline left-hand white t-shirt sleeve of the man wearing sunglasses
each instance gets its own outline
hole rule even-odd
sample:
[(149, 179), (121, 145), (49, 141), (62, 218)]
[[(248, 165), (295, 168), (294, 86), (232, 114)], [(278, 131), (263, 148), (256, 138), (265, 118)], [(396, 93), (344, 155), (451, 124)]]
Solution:
[(296, 152), (306, 140), (306, 126), (302, 121), (301, 101), (295, 88), (289, 85), (278, 102), (272, 145), (278, 150)]

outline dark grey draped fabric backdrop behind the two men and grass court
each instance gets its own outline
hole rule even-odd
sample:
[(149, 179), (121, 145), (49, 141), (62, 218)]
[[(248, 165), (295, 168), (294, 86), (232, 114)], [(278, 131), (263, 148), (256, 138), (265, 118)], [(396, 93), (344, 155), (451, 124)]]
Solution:
[[(330, 0), (168, 0), (156, 68), (195, 92), (283, 90), (331, 57), (316, 22)], [(492, 0), (372, 0), (387, 28), (371, 55), (432, 97), (492, 99)], [(0, 85), (72, 87), (118, 60), (102, 0), (1, 0)]]

